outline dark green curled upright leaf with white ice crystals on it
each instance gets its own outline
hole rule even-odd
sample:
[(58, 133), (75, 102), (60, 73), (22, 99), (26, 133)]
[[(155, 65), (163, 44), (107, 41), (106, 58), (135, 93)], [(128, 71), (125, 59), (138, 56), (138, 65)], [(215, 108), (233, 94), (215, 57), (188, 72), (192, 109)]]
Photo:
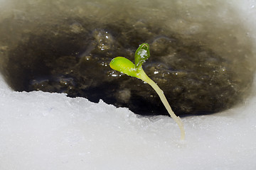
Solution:
[(139, 45), (139, 48), (136, 50), (134, 55), (135, 67), (139, 68), (142, 64), (150, 57), (149, 54), (149, 44), (143, 43)]

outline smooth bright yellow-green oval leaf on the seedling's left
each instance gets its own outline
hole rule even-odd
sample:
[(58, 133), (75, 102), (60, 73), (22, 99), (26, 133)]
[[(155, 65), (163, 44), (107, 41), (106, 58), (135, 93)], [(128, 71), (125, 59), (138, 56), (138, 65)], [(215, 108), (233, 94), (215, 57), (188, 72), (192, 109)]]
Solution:
[(135, 65), (124, 57), (115, 57), (110, 62), (110, 67), (118, 72), (122, 72), (131, 77), (137, 77), (137, 69), (135, 69)]

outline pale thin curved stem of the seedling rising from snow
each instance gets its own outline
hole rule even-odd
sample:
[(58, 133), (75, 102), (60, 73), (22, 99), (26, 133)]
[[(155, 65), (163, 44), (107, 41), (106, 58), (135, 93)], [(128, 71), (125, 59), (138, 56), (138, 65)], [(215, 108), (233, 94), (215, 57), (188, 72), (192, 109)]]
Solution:
[(183, 123), (181, 122), (181, 118), (176, 116), (174, 111), (171, 110), (171, 106), (169, 105), (166, 96), (164, 96), (164, 91), (162, 91), (159, 86), (153, 81), (151, 80), (146, 73), (144, 72), (144, 70), (141, 68), (138, 69), (138, 77), (139, 79), (142, 79), (143, 81), (146, 81), (146, 83), (148, 83), (155, 91), (156, 93), (159, 95), (162, 103), (164, 103), (164, 106), (166, 108), (166, 110), (168, 111), (168, 113), (171, 115), (171, 118), (174, 119), (174, 121), (178, 124), (178, 127), (181, 130), (181, 140), (185, 139), (185, 130), (183, 127)]

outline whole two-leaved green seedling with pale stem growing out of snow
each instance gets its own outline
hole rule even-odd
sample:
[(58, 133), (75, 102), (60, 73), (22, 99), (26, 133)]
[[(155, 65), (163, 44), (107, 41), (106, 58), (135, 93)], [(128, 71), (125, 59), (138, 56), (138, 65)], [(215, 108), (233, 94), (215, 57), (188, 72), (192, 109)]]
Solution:
[(183, 128), (183, 123), (181, 122), (181, 118), (177, 117), (174, 111), (171, 110), (171, 106), (169, 105), (166, 97), (164, 96), (164, 91), (162, 91), (159, 88), (159, 86), (153, 80), (151, 80), (142, 69), (142, 64), (146, 62), (146, 60), (149, 57), (150, 57), (149, 45), (147, 43), (143, 43), (142, 45), (139, 46), (139, 48), (135, 52), (135, 55), (134, 55), (135, 64), (132, 63), (127, 58), (115, 57), (110, 62), (110, 67), (114, 70), (117, 70), (118, 72), (127, 74), (128, 76), (142, 79), (142, 81), (145, 81), (147, 84), (149, 84), (159, 95), (162, 103), (164, 103), (166, 110), (171, 115), (171, 118), (173, 118), (175, 122), (178, 124), (178, 127), (181, 130), (181, 140), (184, 140), (185, 130)]

